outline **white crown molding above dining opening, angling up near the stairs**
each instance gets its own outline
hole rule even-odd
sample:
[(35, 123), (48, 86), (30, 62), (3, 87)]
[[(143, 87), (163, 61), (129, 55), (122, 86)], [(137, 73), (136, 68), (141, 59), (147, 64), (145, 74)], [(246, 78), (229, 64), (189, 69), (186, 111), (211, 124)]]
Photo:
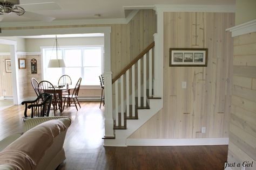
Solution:
[[(1, 22), (1, 27), (57, 26), (57, 25), (95, 25), (128, 24), (139, 10), (134, 9), (126, 18), (53, 20), (52, 22)], [(2, 32), (5, 30), (2, 30)]]

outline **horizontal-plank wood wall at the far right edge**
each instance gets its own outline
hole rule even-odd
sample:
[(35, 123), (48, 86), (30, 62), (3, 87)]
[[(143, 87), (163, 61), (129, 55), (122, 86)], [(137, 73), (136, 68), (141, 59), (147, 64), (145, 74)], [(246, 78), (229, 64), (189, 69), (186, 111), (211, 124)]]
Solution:
[(234, 81), (228, 162), (236, 164), (256, 161), (255, 49), (256, 32), (234, 37)]

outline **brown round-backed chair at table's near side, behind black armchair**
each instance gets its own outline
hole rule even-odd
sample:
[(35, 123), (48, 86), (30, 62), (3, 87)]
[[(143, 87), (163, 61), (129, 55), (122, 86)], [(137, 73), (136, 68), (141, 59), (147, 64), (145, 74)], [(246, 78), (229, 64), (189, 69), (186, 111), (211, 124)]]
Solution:
[(62, 112), (62, 107), (60, 105), (60, 100), (58, 98), (58, 95), (56, 94), (56, 90), (55, 87), (52, 85), (52, 83), (50, 83), (49, 81), (41, 81), (38, 84), (38, 92), (39, 94), (43, 94), (43, 93), (50, 93), (53, 95), (52, 97), (52, 109), (54, 112), (54, 116), (56, 114), (56, 110), (60, 110), (60, 112)]

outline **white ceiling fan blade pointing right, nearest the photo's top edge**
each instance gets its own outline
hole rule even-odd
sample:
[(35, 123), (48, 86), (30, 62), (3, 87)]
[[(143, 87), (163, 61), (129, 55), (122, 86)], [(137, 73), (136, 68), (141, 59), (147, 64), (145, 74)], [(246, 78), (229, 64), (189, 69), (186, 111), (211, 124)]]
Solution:
[(19, 5), (26, 11), (59, 10), (62, 9), (56, 2), (31, 3)]

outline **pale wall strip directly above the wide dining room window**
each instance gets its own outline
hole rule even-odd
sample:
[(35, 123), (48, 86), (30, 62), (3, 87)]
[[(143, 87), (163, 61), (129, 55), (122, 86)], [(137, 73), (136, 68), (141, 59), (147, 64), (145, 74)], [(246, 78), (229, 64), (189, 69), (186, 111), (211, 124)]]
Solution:
[[(30, 38), (26, 39), (26, 52), (40, 52), (41, 46), (54, 45), (55, 38)], [(58, 38), (59, 46), (73, 45), (104, 45), (104, 37)]]

